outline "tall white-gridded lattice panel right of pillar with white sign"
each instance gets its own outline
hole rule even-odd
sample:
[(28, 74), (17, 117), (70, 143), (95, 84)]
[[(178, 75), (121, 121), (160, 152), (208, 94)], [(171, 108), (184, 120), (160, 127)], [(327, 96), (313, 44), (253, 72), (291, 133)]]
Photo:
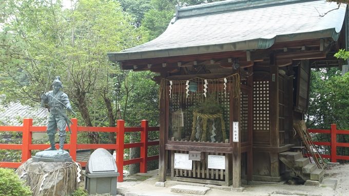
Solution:
[(254, 81), (254, 129), (269, 132), (269, 81)]

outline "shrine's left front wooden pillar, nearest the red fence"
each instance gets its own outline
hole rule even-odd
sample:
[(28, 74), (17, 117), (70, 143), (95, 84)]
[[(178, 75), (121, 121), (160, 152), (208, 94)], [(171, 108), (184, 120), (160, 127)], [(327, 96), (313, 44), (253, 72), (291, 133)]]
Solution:
[[(162, 78), (165, 77), (165, 74), (161, 74)], [(166, 87), (165, 87), (166, 88)], [(160, 127), (159, 127), (159, 182), (166, 181), (166, 169), (167, 169), (167, 151), (165, 150), (165, 141), (166, 141), (166, 105), (167, 105), (167, 96), (166, 98), (160, 101)]]

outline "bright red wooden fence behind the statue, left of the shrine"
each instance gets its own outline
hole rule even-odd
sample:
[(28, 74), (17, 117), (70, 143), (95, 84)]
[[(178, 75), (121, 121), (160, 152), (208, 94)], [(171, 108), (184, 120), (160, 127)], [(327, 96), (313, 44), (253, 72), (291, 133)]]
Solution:
[[(71, 135), (70, 143), (64, 144), (64, 149), (69, 149), (69, 154), (76, 161), (76, 149), (115, 149), (117, 153), (116, 163), (120, 177), (118, 182), (123, 182), (123, 166), (134, 163), (140, 163), (140, 172), (147, 172), (147, 161), (159, 159), (159, 155), (148, 157), (148, 146), (159, 145), (159, 141), (148, 141), (148, 133), (159, 131), (159, 127), (149, 127), (147, 120), (141, 121), (141, 127), (125, 127), (124, 120), (118, 120), (116, 127), (89, 127), (77, 126), (77, 119), (71, 119)], [(46, 132), (46, 126), (33, 126), (33, 119), (26, 118), (23, 120), (23, 126), (0, 126), (0, 132), (22, 132), (22, 144), (1, 144), (0, 149), (22, 150), (22, 162), (0, 162), (1, 167), (17, 168), (23, 162), (31, 158), (31, 150), (44, 150), (49, 144), (32, 144), (33, 132)], [(78, 144), (77, 132), (114, 132), (117, 134), (117, 142), (115, 144)], [(127, 132), (140, 132), (141, 142), (125, 143), (124, 134)], [(56, 144), (59, 147), (59, 144)], [(124, 149), (141, 147), (141, 157), (137, 159), (124, 160)], [(82, 166), (86, 166), (86, 162), (79, 162)]]

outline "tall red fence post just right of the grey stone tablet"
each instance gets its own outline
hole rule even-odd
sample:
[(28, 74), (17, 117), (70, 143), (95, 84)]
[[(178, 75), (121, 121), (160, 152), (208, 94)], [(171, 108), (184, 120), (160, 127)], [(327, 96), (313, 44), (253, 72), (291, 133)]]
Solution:
[(117, 166), (120, 176), (118, 182), (124, 182), (124, 138), (125, 138), (125, 121), (118, 120), (117, 122)]

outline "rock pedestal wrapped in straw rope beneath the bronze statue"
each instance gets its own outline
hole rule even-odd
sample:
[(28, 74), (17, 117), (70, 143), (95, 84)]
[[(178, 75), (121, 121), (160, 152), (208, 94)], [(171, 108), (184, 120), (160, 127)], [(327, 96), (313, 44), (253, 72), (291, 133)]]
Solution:
[(70, 195), (79, 187), (82, 175), (80, 164), (75, 162), (35, 162), (33, 159), (23, 163), (16, 172), (33, 190), (33, 196)]

